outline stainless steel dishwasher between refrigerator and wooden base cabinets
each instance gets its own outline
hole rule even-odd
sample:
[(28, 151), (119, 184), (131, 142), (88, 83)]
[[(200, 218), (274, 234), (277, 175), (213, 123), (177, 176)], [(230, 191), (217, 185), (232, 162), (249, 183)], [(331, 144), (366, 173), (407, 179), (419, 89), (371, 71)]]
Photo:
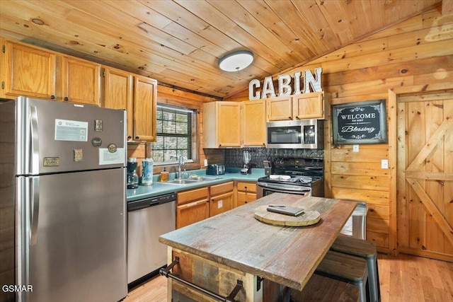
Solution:
[(167, 264), (159, 236), (176, 228), (176, 193), (128, 202), (127, 218), (127, 284), (137, 284)]

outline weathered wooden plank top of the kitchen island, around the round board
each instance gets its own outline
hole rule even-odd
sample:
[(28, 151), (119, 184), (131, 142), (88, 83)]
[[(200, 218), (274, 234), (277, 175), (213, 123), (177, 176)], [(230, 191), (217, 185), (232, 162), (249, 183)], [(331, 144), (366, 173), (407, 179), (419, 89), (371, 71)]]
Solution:
[[(318, 211), (321, 219), (311, 226), (275, 226), (255, 219), (253, 211), (268, 204)], [(302, 290), (356, 205), (340, 199), (273, 193), (166, 233), (159, 241), (173, 250)]]

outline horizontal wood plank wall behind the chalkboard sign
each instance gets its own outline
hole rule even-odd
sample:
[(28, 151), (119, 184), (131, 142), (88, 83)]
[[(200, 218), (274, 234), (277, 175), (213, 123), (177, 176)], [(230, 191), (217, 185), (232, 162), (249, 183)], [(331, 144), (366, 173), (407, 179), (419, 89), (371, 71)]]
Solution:
[[(407, 94), (453, 89), (452, 18), (442, 16), (439, 6), (281, 74), (322, 67), (322, 88), (331, 104), (385, 98), (389, 117), (395, 110), (389, 108), (389, 90)], [(247, 99), (248, 91), (229, 98)], [(390, 138), (396, 121), (388, 124)], [(367, 202), (367, 240), (381, 252), (396, 253), (396, 146), (389, 140), (360, 145), (353, 153), (351, 145), (332, 144), (330, 126), (326, 135), (326, 196)], [(382, 159), (389, 159), (389, 169), (381, 168)]]

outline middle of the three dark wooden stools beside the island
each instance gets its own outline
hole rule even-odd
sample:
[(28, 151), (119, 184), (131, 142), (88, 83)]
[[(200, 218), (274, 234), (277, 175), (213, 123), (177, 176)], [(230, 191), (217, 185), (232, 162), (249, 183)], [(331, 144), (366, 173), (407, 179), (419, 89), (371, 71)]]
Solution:
[(354, 284), (360, 302), (367, 301), (367, 262), (360, 257), (329, 250), (316, 267), (315, 274)]

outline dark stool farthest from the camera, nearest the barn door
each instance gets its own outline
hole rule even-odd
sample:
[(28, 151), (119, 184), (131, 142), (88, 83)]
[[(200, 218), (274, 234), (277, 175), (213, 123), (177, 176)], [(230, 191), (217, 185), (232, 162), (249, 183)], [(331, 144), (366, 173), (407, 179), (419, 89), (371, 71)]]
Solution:
[(376, 244), (367, 240), (338, 235), (335, 242), (331, 246), (331, 250), (361, 257), (367, 261), (369, 296), (373, 302), (381, 301)]

